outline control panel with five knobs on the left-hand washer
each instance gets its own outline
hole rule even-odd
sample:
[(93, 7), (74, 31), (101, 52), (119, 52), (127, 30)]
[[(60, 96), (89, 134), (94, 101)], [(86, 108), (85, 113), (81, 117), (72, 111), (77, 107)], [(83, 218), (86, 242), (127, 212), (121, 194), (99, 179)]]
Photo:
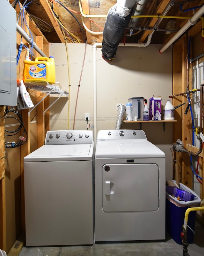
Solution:
[(45, 145), (93, 144), (93, 131), (59, 130), (48, 131)]

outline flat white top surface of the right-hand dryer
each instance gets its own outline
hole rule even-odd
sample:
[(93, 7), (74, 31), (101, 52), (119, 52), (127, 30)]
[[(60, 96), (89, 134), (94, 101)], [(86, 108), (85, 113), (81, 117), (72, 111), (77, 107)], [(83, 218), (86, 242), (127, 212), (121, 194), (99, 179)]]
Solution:
[(165, 157), (162, 150), (148, 140), (101, 140), (96, 143), (95, 158)]

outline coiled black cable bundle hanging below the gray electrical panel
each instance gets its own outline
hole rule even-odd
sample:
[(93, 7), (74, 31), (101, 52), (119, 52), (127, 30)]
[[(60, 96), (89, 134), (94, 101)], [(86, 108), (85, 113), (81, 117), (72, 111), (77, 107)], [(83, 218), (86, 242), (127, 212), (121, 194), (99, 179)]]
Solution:
[[(8, 109), (8, 106), (5, 109), (5, 114), (4, 116), (1, 116), (0, 118), (7, 119), (7, 118), (12, 118), (18, 121), (17, 124), (14, 125), (18, 125), (18, 128), (15, 130), (6, 130), (5, 129), (5, 136), (14, 136), (16, 134), (18, 134), (19, 132), (21, 132), (21, 130), (23, 130), (23, 134), (22, 136), (18, 137), (18, 141), (6, 141), (5, 140), (5, 148), (17, 148), (19, 146), (22, 146), (23, 144), (25, 144), (25, 142), (27, 141), (28, 138), (28, 134), (27, 131), (25, 130), (25, 126), (23, 124), (23, 119), (21, 114), (18, 112), (18, 109), (16, 107), (11, 107), (11, 109)], [(25, 137), (24, 137), (25, 136)]]

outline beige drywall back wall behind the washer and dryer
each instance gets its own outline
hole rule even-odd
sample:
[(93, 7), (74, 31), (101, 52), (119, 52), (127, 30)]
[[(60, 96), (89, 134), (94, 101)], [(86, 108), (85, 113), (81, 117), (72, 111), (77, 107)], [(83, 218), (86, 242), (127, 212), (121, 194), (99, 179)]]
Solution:
[[(94, 129), (115, 129), (117, 105), (125, 105), (132, 97), (149, 100), (153, 95), (161, 96), (163, 109), (169, 95), (172, 95), (172, 49), (170, 47), (160, 54), (160, 48), (161, 45), (151, 44), (145, 48), (118, 47), (116, 57), (111, 62), (103, 60), (101, 48), (97, 48), (97, 127)], [(65, 44), (50, 44), (50, 55), (55, 58), (56, 81), (61, 84), (62, 90), (69, 91), (70, 84), (69, 115), (69, 100), (59, 99), (50, 108), (51, 130), (68, 129), (68, 116), (69, 129), (86, 130), (85, 113), (90, 113), (88, 124), (93, 124), (92, 45), (68, 44), (69, 75)], [(167, 178), (171, 179), (172, 125), (166, 125), (165, 132), (163, 124), (149, 123), (142, 126), (142, 129), (143, 127), (148, 140), (152, 140), (166, 153)], [(139, 129), (139, 126), (123, 123), (122, 128)]]

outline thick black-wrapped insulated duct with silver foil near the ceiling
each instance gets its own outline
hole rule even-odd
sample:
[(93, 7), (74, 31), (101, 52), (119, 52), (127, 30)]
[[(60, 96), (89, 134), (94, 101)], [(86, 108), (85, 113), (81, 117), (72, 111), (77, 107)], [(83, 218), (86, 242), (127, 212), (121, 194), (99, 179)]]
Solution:
[(120, 37), (128, 26), (133, 8), (123, 8), (118, 3), (110, 8), (103, 31), (102, 57), (106, 61), (114, 59)]

